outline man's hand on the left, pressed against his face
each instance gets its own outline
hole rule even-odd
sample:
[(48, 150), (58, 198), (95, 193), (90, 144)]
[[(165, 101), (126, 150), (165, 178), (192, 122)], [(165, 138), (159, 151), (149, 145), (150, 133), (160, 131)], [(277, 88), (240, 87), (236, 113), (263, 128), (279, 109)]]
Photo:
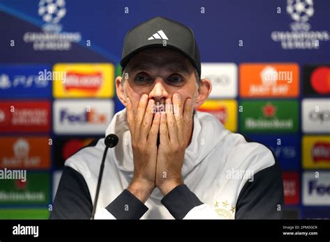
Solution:
[(160, 114), (156, 113), (152, 120), (152, 106), (155, 101), (148, 95), (141, 95), (136, 113), (127, 97), (127, 122), (132, 136), (134, 157), (134, 177), (127, 188), (142, 202), (146, 202), (155, 188), (155, 170), (157, 161), (157, 135)]

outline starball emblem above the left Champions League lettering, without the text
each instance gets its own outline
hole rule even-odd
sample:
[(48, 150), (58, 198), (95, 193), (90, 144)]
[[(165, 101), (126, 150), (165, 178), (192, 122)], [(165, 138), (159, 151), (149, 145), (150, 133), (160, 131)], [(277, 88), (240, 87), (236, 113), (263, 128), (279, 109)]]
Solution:
[(62, 26), (58, 22), (65, 14), (65, 0), (40, 0), (38, 15), (46, 22), (42, 27), (44, 31), (61, 32)]

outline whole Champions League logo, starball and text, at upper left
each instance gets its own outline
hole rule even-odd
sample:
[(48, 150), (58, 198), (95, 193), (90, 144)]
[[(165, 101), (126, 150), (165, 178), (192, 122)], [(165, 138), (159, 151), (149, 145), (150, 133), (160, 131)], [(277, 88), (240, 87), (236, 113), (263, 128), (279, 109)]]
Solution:
[(62, 32), (60, 20), (65, 17), (67, 10), (65, 0), (40, 0), (38, 15), (45, 22), (42, 32), (26, 32), (23, 40), (33, 43), (33, 50), (38, 51), (68, 51), (72, 42), (80, 42), (81, 33)]

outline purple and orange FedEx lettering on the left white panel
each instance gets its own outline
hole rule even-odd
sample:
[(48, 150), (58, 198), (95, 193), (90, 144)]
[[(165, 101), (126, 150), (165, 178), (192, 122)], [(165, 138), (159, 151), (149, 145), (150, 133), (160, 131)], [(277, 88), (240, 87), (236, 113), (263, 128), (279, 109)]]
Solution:
[(107, 121), (107, 117), (104, 113), (97, 113), (95, 108), (91, 108), (90, 111), (84, 111), (81, 113), (70, 113), (68, 108), (61, 110), (61, 122), (67, 120), (68, 122), (87, 122), (91, 124), (97, 124)]

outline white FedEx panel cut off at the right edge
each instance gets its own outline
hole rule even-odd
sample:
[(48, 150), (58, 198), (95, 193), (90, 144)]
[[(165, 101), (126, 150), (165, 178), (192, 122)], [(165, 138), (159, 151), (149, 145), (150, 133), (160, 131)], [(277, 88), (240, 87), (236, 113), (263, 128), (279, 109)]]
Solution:
[(303, 204), (328, 206), (330, 204), (330, 172), (304, 172)]

